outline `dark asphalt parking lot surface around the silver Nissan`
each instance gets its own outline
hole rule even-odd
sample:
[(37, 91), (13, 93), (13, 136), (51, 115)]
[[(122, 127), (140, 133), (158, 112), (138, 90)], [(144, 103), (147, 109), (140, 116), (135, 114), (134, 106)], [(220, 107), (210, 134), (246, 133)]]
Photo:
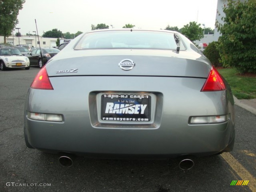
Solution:
[[(24, 102), (37, 67), (0, 71), (0, 191), (256, 191), (256, 115), (236, 106), (234, 150), (195, 159), (89, 159), (62, 167), (58, 155), (29, 149), (23, 135)], [(247, 186), (231, 186), (249, 180)]]

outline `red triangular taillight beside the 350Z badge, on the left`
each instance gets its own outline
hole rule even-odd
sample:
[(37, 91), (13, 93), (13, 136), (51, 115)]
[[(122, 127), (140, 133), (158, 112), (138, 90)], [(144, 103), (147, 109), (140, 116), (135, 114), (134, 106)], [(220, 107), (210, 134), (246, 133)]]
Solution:
[(33, 89), (49, 89), (53, 90), (50, 79), (48, 77), (46, 67), (42, 67), (42, 69), (37, 73), (34, 81), (32, 82), (31, 88)]

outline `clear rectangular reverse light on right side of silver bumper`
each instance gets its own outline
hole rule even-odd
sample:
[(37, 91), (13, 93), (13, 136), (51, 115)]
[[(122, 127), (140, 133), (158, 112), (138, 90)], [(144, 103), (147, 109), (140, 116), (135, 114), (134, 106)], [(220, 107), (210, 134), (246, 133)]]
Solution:
[(190, 124), (209, 124), (209, 123), (222, 123), (229, 119), (229, 115), (216, 115), (216, 116), (199, 116), (191, 117)]

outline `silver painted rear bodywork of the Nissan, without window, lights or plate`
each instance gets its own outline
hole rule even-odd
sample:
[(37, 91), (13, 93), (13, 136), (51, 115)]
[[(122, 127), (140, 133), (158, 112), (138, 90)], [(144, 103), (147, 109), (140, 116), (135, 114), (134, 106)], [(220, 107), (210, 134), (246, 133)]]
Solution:
[[(232, 141), (234, 102), (230, 88), (227, 85), (225, 91), (200, 92), (211, 69), (204, 56), (189, 48), (179, 53), (74, 51), (75, 42), (70, 42), (46, 65), (54, 90), (28, 91), (25, 130), (34, 148), (56, 153), (175, 157), (217, 154)], [(116, 67), (125, 58), (136, 63), (133, 70)], [(79, 73), (56, 74), (60, 69), (74, 68)], [(105, 92), (154, 95), (152, 121), (135, 124), (100, 120), (99, 97)], [(62, 114), (64, 121), (31, 120), (27, 111)], [(230, 114), (230, 120), (224, 123), (188, 123), (191, 116), (225, 114)]]

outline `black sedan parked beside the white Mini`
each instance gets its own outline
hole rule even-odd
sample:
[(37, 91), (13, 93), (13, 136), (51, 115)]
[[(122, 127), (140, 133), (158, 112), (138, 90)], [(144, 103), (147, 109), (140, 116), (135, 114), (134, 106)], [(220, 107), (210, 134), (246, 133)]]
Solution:
[[(41, 48), (42, 51), (42, 59), (40, 54), (40, 48), (34, 49), (31, 53), (29, 53), (28, 58), (30, 61), (30, 65), (36, 65), (42, 68), (47, 61), (49, 61), (52, 57), (54, 57), (58, 52), (60, 52), (59, 49), (56, 48)], [(42, 62), (43, 60), (43, 62)]]

